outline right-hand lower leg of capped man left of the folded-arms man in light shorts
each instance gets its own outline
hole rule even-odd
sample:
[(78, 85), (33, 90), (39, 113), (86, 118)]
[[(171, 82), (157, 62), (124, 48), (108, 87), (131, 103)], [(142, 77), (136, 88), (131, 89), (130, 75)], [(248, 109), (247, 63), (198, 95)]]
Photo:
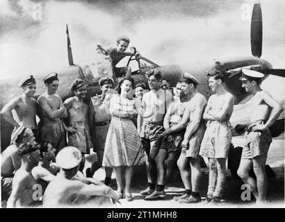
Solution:
[(191, 184), (192, 191), (199, 192), (200, 189), (200, 180), (202, 177), (200, 158), (189, 157), (190, 167), (191, 167)]

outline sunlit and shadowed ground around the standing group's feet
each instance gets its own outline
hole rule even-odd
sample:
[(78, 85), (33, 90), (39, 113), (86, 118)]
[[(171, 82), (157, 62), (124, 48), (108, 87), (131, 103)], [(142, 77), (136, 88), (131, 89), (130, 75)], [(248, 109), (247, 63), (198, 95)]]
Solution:
[[(243, 142), (243, 138), (236, 138), (233, 141), (235, 146)], [(284, 205), (284, 139), (275, 139), (270, 146), (268, 152), (267, 164), (270, 165), (275, 173), (275, 178), (268, 180), (268, 205), (266, 207), (285, 207)], [(208, 186), (209, 169), (207, 167), (202, 168), (202, 191), (201, 196), (206, 196)], [(99, 169), (95, 173), (95, 178), (104, 181), (104, 170)], [(251, 201), (241, 200), (241, 185), (242, 180), (233, 178), (229, 170), (227, 170), (227, 187), (225, 189), (225, 195), (223, 197), (221, 205), (202, 205), (197, 204), (181, 204), (172, 200), (173, 196), (181, 195), (184, 191), (184, 186), (180, 178), (179, 170), (177, 169), (173, 173), (173, 180), (170, 184), (166, 185), (165, 192), (167, 194), (164, 200), (144, 200), (144, 196), (141, 196), (139, 192), (145, 189), (147, 185), (147, 176), (144, 167), (137, 167), (133, 172), (133, 182), (131, 185), (133, 201), (127, 202), (122, 199), (120, 202), (122, 205), (117, 205), (120, 208), (188, 208), (188, 207), (263, 207), (255, 204), (254, 198)], [(112, 174), (111, 187), (116, 189), (115, 173)]]

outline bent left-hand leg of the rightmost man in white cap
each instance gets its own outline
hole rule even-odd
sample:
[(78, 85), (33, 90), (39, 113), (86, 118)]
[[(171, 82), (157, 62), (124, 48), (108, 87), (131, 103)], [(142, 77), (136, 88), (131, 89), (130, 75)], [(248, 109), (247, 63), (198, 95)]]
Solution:
[(257, 199), (257, 181), (250, 176), (250, 171), (253, 167), (251, 159), (241, 159), (240, 166), (238, 167), (238, 176), (245, 182), (245, 184), (250, 185), (252, 194)]

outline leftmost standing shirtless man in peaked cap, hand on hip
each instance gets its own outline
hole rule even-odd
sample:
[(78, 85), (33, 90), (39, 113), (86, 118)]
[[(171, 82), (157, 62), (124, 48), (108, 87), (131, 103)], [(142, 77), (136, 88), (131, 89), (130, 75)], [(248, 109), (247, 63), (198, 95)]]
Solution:
[[(31, 128), (36, 137), (37, 123), (35, 115), (37, 110), (37, 101), (33, 99), (35, 89), (37, 88), (35, 78), (33, 78), (33, 76), (27, 76), (19, 82), (18, 86), (23, 89), (22, 95), (15, 97), (7, 103), (1, 110), (0, 114), (3, 119), (15, 127), (11, 137), (13, 137), (13, 134), (19, 126)], [(15, 118), (13, 117), (13, 110), (15, 110)]]

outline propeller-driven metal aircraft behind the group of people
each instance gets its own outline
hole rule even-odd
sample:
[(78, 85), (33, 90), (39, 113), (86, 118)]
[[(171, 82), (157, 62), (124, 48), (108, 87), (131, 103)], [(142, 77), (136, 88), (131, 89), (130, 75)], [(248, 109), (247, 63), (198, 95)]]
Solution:
[[(132, 67), (132, 76), (135, 80), (135, 84), (139, 82), (147, 83), (146, 72), (150, 69), (161, 69), (163, 73), (163, 78), (170, 80), (170, 85), (175, 86), (179, 78), (183, 75), (184, 71), (193, 74), (199, 80), (198, 90), (206, 99), (213, 92), (209, 89), (208, 82), (206, 80), (205, 74), (207, 71), (222, 71), (225, 74), (225, 87), (234, 95), (235, 98), (235, 108), (234, 113), (231, 117), (231, 125), (235, 126), (236, 123), (247, 123), (249, 121), (249, 105), (245, 104), (250, 101), (251, 96), (245, 92), (245, 89), (241, 87), (241, 81), (238, 78), (241, 77), (241, 68), (252, 69), (255, 71), (260, 71), (265, 74), (266, 77), (263, 83), (266, 83), (267, 76), (273, 74), (275, 76), (285, 76), (284, 69), (272, 69), (270, 62), (261, 59), (262, 51), (262, 16), (261, 16), (261, 6), (260, 3), (254, 4), (254, 9), (252, 12), (252, 26), (251, 26), (251, 45), (252, 45), (252, 56), (246, 57), (231, 57), (231, 58), (220, 58), (214, 60), (210, 64), (200, 65), (199, 68), (193, 69), (182, 69), (177, 65), (166, 65), (160, 66), (156, 63), (147, 60), (147, 58), (135, 58), (134, 56), (129, 56), (127, 64), (124, 66)], [(90, 101), (90, 96), (95, 96), (101, 93), (101, 89), (98, 85), (98, 80), (102, 76), (111, 76), (115, 80), (115, 85), (120, 82), (120, 78), (116, 78), (113, 74), (113, 69), (111, 61), (102, 57), (97, 61), (85, 62), (82, 64), (74, 65), (72, 59), (72, 50), (70, 45), (70, 37), (67, 28), (67, 52), (70, 62), (69, 67), (65, 67), (61, 70), (54, 70), (58, 73), (58, 78), (60, 81), (60, 87), (58, 88), (58, 94), (62, 97), (63, 101), (68, 97), (72, 96), (70, 92), (70, 85), (76, 78), (82, 78), (88, 85), (88, 94), (86, 96), (86, 103)], [(201, 62), (199, 62), (201, 63)], [(135, 67), (135, 68), (133, 68)], [(45, 90), (44, 84), (42, 83), (42, 78), (46, 76), (47, 73), (34, 74), (37, 82), (37, 92), (36, 95), (39, 96)], [(22, 94), (22, 89), (17, 87), (19, 80), (25, 75), (21, 76), (19, 79), (13, 79), (8, 81), (0, 81), (0, 110), (3, 105), (6, 105), (8, 101), (13, 99), (13, 97)], [(262, 85), (261, 85), (262, 87)], [(37, 97), (36, 96), (36, 97)], [(272, 94), (275, 98), (275, 95)], [(284, 100), (284, 99), (283, 99)], [(279, 101), (283, 103), (284, 101)], [(10, 144), (10, 135), (12, 133), (13, 126), (1, 118), (1, 151), (5, 149)], [(279, 117), (279, 120), (273, 124), (271, 127), (271, 133), (273, 136), (278, 136), (284, 133), (284, 113)]]

